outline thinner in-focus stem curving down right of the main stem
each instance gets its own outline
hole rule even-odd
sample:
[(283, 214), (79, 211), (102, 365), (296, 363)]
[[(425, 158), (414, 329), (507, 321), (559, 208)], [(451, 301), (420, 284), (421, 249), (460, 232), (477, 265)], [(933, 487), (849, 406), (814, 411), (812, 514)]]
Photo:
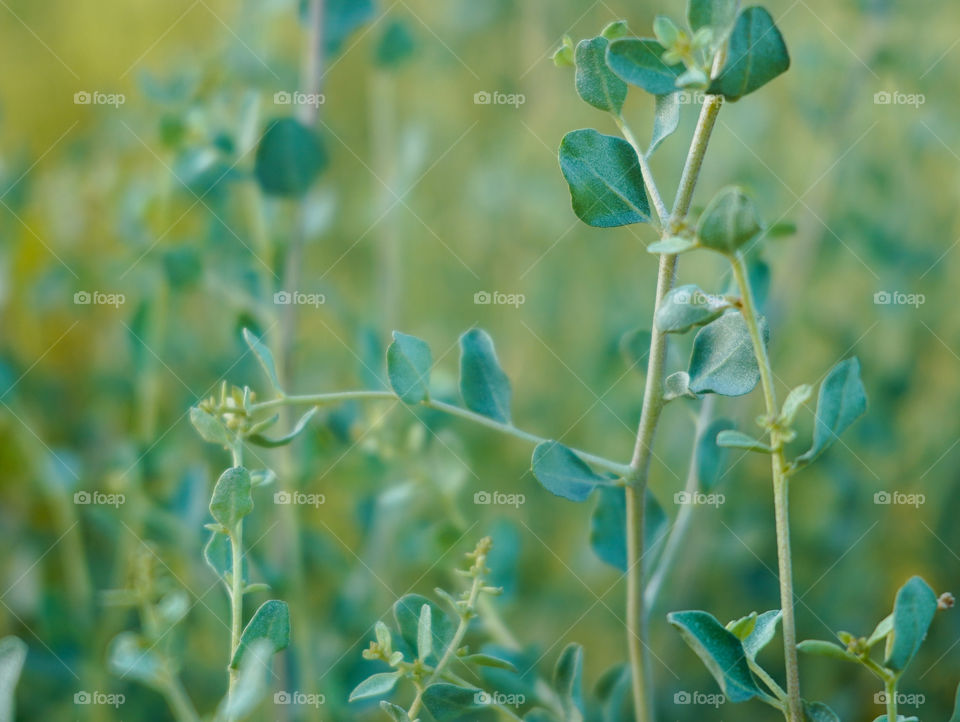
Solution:
[(790, 722), (803, 722), (803, 708), (800, 701), (800, 670), (797, 660), (797, 626), (793, 604), (793, 563), (790, 555), (790, 513), (789, 513), (789, 477), (786, 473), (787, 462), (783, 454), (784, 439), (774, 420), (779, 413), (776, 390), (773, 386), (773, 372), (770, 357), (760, 330), (756, 301), (747, 275), (743, 256), (737, 253), (731, 258), (733, 275), (740, 288), (742, 298), (741, 311), (750, 331), (757, 366), (760, 368), (760, 387), (763, 391), (764, 405), (770, 424), (770, 455), (773, 474), (774, 517), (777, 530), (777, 564), (780, 577), (780, 606), (783, 610), (783, 657), (787, 674), (787, 719)]

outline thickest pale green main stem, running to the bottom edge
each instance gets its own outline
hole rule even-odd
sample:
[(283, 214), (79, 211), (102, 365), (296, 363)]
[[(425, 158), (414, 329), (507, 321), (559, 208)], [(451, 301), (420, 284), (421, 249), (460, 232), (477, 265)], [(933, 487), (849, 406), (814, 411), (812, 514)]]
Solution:
[[(670, 220), (663, 228), (663, 237), (674, 231), (690, 211), (693, 192), (703, 167), (703, 157), (720, 112), (722, 99), (708, 95), (700, 110), (697, 127), (690, 142), (690, 150), (680, 176), (680, 186), (674, 201)], [(653, 315), (663, 301), (664, 296), (673, 287), (677, 269), (677, 256), (663, 254), (657, 272), (657, 295)], [(650, 458), (653, 438), (660, 413), (663, 411), (663, 377), (666, 359), (667, 337), (654, 327), (650, 332), (650, 353), (647, 360), (647, 379), (634, 444), (633, 458), (630, 461), (631, 473), (626, 488), (627, 505), (627, 644), (630, 653), (630, 674), (633, 690), (633, 705), (637, 722), (653, 720), (653, 685), (649, 679), (649, 665), (646, 656), (646, 614), (644, 613), (643, 579), (643, 516), (644, 493), (650, 473)]]

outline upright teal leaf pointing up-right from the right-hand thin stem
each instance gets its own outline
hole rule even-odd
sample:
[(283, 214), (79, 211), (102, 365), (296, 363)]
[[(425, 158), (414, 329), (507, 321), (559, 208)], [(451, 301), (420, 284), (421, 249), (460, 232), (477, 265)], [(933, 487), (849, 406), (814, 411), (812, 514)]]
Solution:
[(834, 366), (820, 384), (813, 446), (797, 462), (809, 464), (816, 459), (866, 411), (867, 392), (860, 380), (860, 361), (854, 356)]

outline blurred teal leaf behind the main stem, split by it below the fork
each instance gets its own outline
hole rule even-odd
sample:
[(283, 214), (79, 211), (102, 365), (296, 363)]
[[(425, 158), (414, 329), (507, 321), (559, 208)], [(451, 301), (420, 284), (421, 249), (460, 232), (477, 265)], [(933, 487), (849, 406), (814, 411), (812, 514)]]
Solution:
[[(627, 501), (623, 487), (603, 486), (590, 517), (590, 547), (600, 559), (627, 571)], [(660, 540), (667, 515), (648, 488), (644, 493), (644, 548)]]

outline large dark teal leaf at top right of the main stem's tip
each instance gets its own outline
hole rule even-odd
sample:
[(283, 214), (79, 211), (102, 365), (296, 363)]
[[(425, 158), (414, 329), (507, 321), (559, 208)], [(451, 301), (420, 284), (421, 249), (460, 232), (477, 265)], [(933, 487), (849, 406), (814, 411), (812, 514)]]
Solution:
[(783, 36), (762, 7), (744, 9), (730, 34), (727, 62), (710, 84), (710, 93), (738, 100), (769, 83), (790, 67)]

